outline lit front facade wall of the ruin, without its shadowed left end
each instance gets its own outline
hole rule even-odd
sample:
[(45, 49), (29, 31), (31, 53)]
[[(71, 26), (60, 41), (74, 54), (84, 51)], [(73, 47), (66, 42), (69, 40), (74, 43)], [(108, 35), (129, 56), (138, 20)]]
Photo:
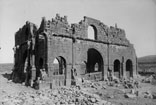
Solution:
[[(122, 63), (122, 76), (127, 77), (126, 61), (132, 62), (132, 72), (136, 73), (136, 55), (133, 46), (125, 37), (125, 31), (117, 27), (108, 27), (99, 20), (84, 17), (84, 20), (78, 24), (68, 25), (64, 17), (56, 16), (52, 21), (43, 19), (39, 30), (46, 32), (48, 36), (48, 71), (50, 80), (54, 80), (54, 59), (58, 56), (66, 60), (65, 77), (70, 84), (71, 69), (77, 70), (78, 76), (88, 78), (86, 73), (86, 62), (88, 50), (95, 49), (102, 56), (103, 70), (91, 74), (101, 75), (102, 78), (107, 78), (108, 69), (114, 70), (114, 61), (119, 60)], [(95, 39), (88, 38), (88, 27), (94, 29)], [(121, 68), (119, 73), (121, 73)], [(89, 73), (90, 75), (90, 73)]]

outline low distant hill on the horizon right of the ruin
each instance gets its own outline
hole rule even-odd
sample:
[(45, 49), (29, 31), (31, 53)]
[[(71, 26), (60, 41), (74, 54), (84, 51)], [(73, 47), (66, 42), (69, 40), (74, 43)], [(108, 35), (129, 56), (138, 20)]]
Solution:
[(138, 63), (156, 63), (156, 55), (140, 57)]

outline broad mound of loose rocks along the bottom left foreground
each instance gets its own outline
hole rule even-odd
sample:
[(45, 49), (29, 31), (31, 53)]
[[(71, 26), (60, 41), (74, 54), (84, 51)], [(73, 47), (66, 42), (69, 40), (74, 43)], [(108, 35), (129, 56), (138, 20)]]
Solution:
[(58, 89), (34, 90), (6, 95), (2, 105), (114, 105), (101, 100), (95, 94), (90, 94), (75, 88), (62, 87)]

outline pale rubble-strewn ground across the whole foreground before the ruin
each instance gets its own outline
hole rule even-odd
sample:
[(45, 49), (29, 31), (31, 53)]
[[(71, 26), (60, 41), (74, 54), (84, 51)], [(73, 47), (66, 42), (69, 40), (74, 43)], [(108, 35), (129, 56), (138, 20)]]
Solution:
[[(9, 74), (9, 72), (7, 72)], [(34, 90), (0, 72), (0, 105), (156, 105), (156, 85), (138, 77), (138, 87), (122, 81), (85, 81), (80, 88)], [(131, 87), (132, 85), (132, 87)]]

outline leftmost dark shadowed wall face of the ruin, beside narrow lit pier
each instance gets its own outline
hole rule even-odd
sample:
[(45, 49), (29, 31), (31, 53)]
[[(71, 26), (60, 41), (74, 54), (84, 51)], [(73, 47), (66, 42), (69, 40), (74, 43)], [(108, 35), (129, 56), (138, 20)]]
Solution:
[[(29, 37), (29, 30), (28, 30), (28, 23), (24, 25), (22, 28), (19, 29), (18, 32), (15, 34), (15, 56), (14, 56), (14, 69), (17, 72), (17, 78), (15, 81), (23, 81), (23, 70), (25, 59), (27, 56), (27, 43), (25, 42), (28, 40)], [(19, 80), (20, 79), (20, 80)]]

